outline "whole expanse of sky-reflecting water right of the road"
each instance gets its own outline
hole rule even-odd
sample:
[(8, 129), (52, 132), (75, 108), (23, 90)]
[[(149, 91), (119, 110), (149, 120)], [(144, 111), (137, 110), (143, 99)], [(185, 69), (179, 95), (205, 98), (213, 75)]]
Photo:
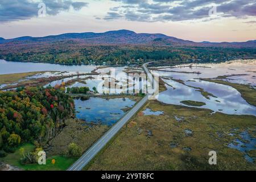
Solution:
[[(214, 112), (219, 111), (225, 114), (246, 114), (256, 115), (256, 107), (248, 104), (242, 97), (240, 92), (228, 85), (216, 84), (208, 81), (201, 81), (197, 78), (213, 78), (223, 75), (232, 74), (246, 74), (243, 76), (232, 76), (234, 80), (230, 82), (237, 82), (242, 84), (255, 84), (254, 76), (256, 73), (256, 60), (247, 61), (230, 61), (229, 63), (220, 64), (200, 64), (198, 67), (185, 67), (182, 65), (176, 68), (161, 68), (163, 71), (154, 71), (159, 76), (165, 76), (163, 79), (166, 82), (167, 90), (159, 94), (158, 100), (166, 104), (183, 105), (181, 101), (192, 100), (205, 102), (206, 105), (200, 108), (211, 109)], [(205, 67), (205, 68), (202, 68)], [(175, 72), (164, 72), (175, 71)], [(178, 72), (178, 73), (177, 73)], [(181, 72), (200, 72), (195, 73), (181, 73)], [(183, 80), (184, 84), (168, 79), (174, 78), (176, 80)], [(246, 80), (246, 82), (243, 82)], [(169, 86), (171, 85), (171, 86)], [(189, 86), (203, 88), (205, 91), (212, 93), (215, 97), (209, 96), (205, 98), (196, 88)], [(191, 106), (193, 107), (193, 106)]]

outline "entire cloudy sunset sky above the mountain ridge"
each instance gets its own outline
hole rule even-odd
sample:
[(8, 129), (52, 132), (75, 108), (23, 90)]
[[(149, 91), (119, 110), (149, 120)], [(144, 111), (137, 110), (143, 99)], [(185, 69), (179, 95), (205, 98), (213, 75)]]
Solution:
[(6, 39), (120, 29), (196, 42), (256, 40), (256, 0), (0, 0)]

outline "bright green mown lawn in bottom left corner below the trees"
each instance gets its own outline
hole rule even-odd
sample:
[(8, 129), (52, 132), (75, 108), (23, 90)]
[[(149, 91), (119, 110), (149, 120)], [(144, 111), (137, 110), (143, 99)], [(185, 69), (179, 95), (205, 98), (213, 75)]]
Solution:
[[(30, 143), (23, 144), (19, 148), (23, 147), (25, 153), (34, 150), (35, 146)], [(19, 149), (16, 150), (13, 154), (8, 154), (5, 158), (0, 158), (0, 161), (6, 164), (10, 164), (11, 166), (16, 166), (28, 171), (64, 171), (71, 166), (77, 158), (68, 158), (66, 156), (51, 156), (47, 158), (46, 165), (39, 164), (20, 164), (20, 158), (22, 158), (22, 154), (20, 154)], [(51, 163), (52, 159), (55, 159), (55, 164)]]

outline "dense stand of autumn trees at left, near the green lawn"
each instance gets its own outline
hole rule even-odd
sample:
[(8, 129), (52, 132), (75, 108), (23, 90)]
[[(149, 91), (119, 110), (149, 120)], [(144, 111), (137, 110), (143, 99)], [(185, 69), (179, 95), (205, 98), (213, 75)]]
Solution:
[(46, 142), (73, 112), (72, 98), (51, 87), (0, 92), (0, 151), (12, 152), (22, 142)]

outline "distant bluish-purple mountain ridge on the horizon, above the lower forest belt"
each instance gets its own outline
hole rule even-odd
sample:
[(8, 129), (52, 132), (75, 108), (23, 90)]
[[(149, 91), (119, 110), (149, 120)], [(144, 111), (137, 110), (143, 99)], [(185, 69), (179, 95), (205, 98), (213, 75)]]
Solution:
[(129, 30), (108, 31), (104, 33), (68, 33), (61, 35), (51, 35), (42, 38), (23, 36), (15, 39), (0, 38), (0, 44), (35, 44), (35, 43), (55, 43), (59, 41), (73, 41), (83, 45), (146, 45), (146, 46), (199, 46), (199, 47), (256, 47), (256, 40), (247, 42), (192, 42), (178, 39), (164, 34), (137, 34)]

